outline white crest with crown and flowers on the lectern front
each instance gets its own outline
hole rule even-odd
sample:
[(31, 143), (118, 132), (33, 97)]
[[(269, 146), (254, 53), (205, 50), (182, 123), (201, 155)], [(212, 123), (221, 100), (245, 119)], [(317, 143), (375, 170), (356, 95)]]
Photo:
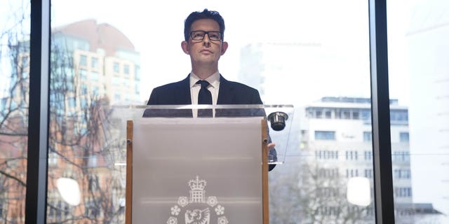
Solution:
[[(171, 216), (167, 224), (228, 224), (225, 216), (225, 207), (219, 204), (217, 197), (210, 196), (206, 198), (206, 180), (192, 179), (187, 182), (190, 190), (189, 197), (179, 197), (177, 204), (170, 208)], [(184, 213), (184, 216), (180, 215)], [(184, 222), (182, 222), (184, 218)], [(181, 221), (178, 222), (178, 219)], [(213, 220), (211, 222), (211, 220)]]

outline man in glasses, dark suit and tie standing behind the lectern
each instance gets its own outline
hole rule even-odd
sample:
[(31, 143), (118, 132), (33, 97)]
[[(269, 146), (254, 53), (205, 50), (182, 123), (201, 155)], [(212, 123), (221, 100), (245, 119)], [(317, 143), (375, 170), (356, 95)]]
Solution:
[[(148, 105), (262, 104), (257, 90), (226, 80), (219, 73), (218, 60), (228, 47), (224, 34), (225, 20), (217, 11), (191, 13), (185, 20), (185, 41), (181, 47), (190, 56), (192, 71), (184, 80), (154, 88)], [(149, 112), (145, 111), (144, 116), (151, 116)], [(185, 112), (185, 116), (200, 116), (200, 110)], [(218, 111), (213, 113), (218, 115)], [(270, 143), (269, 148), (271, 156), (276, 156), (274, 144)]]

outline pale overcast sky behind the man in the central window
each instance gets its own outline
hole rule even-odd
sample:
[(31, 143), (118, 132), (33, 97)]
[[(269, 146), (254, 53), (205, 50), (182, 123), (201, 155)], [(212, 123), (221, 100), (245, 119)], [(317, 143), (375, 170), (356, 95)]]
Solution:
[[(295, 69), (297, 75), (287, 76), (286, 83), (289, 85), (270, 86), (265, 100), (273, 104), (275, 99), (281, 98), (283, 101), (278, 103), (301, 105), (323, 96), (369, 97), (367, 2), (282, 0), (274, 4), (273, 1), (253, 0), (238, 3), (55, 0), (52, 1), (52, 26), (95, 19), (98, 23), (105, 22), (121, 30), (141, 54), (141, 98), (145, 100), (153, 87), (181, 80), (190, 71), (189, 57), (180, 48), (183, 22), (187, 15), (203, 8), (218, 10), (225, 18), (225, 41), (229, 42), (227, 52), (220, 59), (219, 69), (230, 80), (237, 80), (241, 63), (240, 50), (245, 45), (320, 45), (320, 48), (312, 52), (311, 55), (314, 56), (301, 50), (289, 55), (276, 55), (278, 58), (285, 58), (286, 62), (290, 62), (291, 58), (298, 58), (298, 61), (305, 60), (307, 63)], [(161, 32), (165, 35), (153, 35)], [(397, 44), (395, 46), (401, 47)], [(276, 51), (264, 53), (279, 54)], [(274, 74), (276, 75), (286, 77), (279, 73)], [(391, 76), (391, 82), (395, 80)], [(397, 80), (403, 83), (404, 78)], [(391, 90), (391, 97), (400, 97), (401, 103), (406, 104), (408, 98), (404, 92), (408, 90)]]

